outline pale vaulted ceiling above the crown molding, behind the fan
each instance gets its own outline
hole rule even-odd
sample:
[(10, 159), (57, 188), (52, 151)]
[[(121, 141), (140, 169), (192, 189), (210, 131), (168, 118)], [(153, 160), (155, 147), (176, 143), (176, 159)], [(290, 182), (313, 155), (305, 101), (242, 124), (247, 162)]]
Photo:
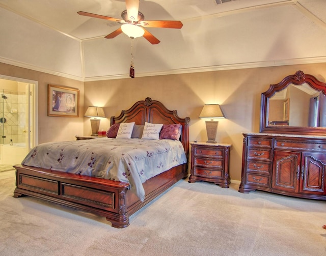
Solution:
[[(79, 80), (128, 77), (131, 39), (104, 36), (120, 24), (124, 0), (0, 0), (0, 61)], [(135, 76), (326, 62), (325, 0), (141, 0), (161, 42), (134, 40)]]

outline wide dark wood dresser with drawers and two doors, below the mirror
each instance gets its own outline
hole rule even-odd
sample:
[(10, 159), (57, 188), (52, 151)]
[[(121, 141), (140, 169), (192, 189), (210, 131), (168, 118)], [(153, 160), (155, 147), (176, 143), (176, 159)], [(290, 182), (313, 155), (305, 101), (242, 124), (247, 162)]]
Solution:
[(243, 133), (239, 192), (326, 200), (326, 136)]

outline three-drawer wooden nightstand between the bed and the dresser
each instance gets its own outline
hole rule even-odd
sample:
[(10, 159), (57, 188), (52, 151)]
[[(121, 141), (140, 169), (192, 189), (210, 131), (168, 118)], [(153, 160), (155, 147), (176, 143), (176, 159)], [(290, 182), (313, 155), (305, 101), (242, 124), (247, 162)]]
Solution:
[(229, 153), (231, 144), (191, 143), (190, 183), (196, 181), (214, 182), (223, 188), (230, 184)]

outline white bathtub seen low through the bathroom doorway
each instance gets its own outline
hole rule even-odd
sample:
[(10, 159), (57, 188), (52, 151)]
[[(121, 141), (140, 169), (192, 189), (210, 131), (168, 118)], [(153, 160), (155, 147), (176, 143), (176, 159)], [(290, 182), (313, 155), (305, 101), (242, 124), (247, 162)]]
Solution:
[(25, 158), (28, 151), (25, 143), (0, 145), (0, 164), (17, 164)]

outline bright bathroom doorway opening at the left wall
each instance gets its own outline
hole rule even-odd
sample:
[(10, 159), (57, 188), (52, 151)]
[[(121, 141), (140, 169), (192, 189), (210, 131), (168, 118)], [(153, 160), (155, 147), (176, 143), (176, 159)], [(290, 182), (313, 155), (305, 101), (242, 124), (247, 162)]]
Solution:
[(37, 145), (37, 81), (0, 75), (0, 95), (0, 172), (5, 172)]

